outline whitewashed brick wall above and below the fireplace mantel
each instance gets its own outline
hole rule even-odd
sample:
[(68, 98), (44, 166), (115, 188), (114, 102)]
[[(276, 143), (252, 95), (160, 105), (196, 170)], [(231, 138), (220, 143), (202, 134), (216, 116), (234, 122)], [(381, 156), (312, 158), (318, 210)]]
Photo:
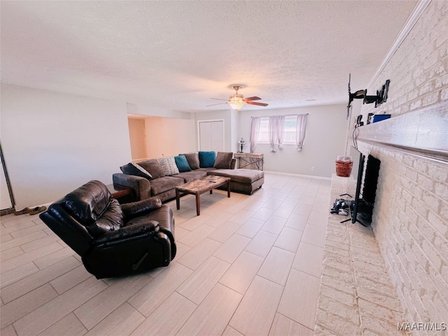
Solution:
[[(377, 109), (363, 105), (363, 120), (367, 113), (394, 117), (448, 101), (448, 1), (428, 3), (367, 87), (369, 94), (386, 79), (391, 80), (387, 102)], [(381, 160), (372, 228), (405, 322), (448, 325), (448, 165), (360, 141), (358, 148)], [(416, 334), (426, 335), (419, 329)]]

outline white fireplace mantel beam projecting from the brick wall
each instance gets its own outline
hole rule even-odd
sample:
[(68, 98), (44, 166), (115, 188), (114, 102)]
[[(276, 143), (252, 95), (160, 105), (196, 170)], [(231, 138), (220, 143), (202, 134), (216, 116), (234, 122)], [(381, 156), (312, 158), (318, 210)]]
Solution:
[(448, 164), (448, 102), (358, 127), (358, 141)]

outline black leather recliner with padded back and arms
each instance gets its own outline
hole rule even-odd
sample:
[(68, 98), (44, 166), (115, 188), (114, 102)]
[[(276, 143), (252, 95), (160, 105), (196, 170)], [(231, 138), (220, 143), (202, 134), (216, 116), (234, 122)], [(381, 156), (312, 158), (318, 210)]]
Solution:
[(176, 255), (172, 209), (158, 198), (119, 204), (90, 181), (39, 216), (97, 279), (167, 266)]

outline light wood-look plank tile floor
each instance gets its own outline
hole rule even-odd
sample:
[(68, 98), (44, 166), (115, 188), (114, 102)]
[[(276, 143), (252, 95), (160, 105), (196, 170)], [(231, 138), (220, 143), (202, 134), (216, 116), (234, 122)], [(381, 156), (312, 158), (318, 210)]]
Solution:
[(266, 173), (253, 195), (168, 204), (169, 267), (97, 280), (38, 215), (1, 221), (1, 335), (313, 335), (330, 181)]

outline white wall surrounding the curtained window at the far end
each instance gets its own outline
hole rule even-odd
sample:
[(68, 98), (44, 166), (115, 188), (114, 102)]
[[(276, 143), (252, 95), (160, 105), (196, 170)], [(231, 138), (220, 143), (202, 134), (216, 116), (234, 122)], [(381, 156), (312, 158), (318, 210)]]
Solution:
[[(246, 143), (251, 134), (251, 117), (309, 113), (302, 151), (296, 146), (283, 145), (283, 150), (270, 153), (269, 144), (258, 144), (255, 153), (264, 154), (264, 170), (330, 178), (335, 172), (335, 160), (344, 155), (346, 146), (346, 106), (308, 106), (294, 109), (239, 111), (240, 137)], [(244, 152), (249, 152), (247, 145)]]

